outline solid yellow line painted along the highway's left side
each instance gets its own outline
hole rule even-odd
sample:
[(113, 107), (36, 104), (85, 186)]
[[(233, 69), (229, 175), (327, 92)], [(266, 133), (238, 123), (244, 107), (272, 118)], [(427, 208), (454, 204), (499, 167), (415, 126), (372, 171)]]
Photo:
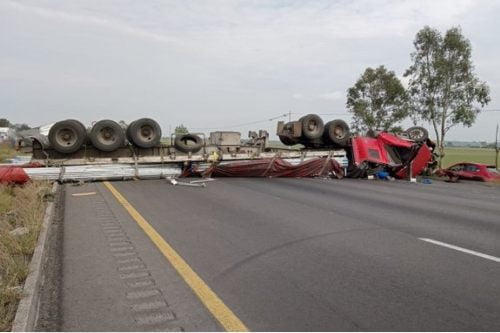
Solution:
[(160, 234), (146, 221), (144, 217), (125, 199), (125, 197), (109, 182), (104, 186), (114, 195), (116, 200), (127, 210), (137, 224), (149, 236), (160, 252), (177, 270), (184, 281), (191, 287), (200, 301), (219, 321), (226, 331), (247, 332), (248, 328), (236, 317), (226, 304), (215, 294), (212, 289), (196, 274), (184, 259), (160, 236)]

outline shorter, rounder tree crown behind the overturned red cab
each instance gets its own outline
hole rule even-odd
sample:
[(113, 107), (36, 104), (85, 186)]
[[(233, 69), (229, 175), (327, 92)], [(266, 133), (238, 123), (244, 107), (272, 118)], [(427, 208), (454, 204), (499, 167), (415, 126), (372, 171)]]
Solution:
[(394, 72), (384, 66), (367, 68), (347, 91), (347, 108), (353, 114), (354, 131), (390, 131), (408, 116), (408, 98)]

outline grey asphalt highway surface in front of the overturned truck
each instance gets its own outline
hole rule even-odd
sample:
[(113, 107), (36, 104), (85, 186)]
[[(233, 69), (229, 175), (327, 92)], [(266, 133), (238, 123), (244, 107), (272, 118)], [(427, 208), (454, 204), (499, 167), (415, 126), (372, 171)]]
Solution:
[[(112, 186), (249, 330), (500, 330), (498, 186), (347, 179)], [(120, 310), (121, 291), (112, 291), (128, 281), (124, 267), (147, 268), (157, 286), (149, 294), (124, 290), (125, 301), (162, 293), (165, 300), (147, 304), (168, 303), (178, 327), (223, 329), (105, 184), (67, 191), (62, 329), (141, 330)], [(98, 220), (102, 227), (93, 227)], [(109, 258), (122, 263), (115, 280), (106, 270), (116, 273), (116, 261), (99, 245), (109, 232), (117, 246)], [(120, 253), (129, 250), (140, 258), (123, 266)], [(97, 310), (84, 310), (90, 306)], [(109, 317), (121, 326), (100, 322)]]

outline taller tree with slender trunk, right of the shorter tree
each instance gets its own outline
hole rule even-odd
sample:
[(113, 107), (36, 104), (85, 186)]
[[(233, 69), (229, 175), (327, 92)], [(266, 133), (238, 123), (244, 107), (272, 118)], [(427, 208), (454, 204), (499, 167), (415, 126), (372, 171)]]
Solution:
[(458, 124), (472, 126), (478, 106), (490, 101), (489, 87), (474, 73), (472, 48), (460, 28), (449, 29), (443, 37), (426, 26), (413, 45), (413, 64), (405, 72), (412, 117), (432, 124), (441, 167), (446, 133)]

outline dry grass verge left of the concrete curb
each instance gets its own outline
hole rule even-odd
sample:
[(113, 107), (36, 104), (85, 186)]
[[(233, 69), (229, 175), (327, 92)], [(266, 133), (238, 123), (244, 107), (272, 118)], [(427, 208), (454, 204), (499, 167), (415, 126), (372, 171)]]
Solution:
[(0, 331), (11, 330), (48, 198), (47, 182), (0, 185)]

